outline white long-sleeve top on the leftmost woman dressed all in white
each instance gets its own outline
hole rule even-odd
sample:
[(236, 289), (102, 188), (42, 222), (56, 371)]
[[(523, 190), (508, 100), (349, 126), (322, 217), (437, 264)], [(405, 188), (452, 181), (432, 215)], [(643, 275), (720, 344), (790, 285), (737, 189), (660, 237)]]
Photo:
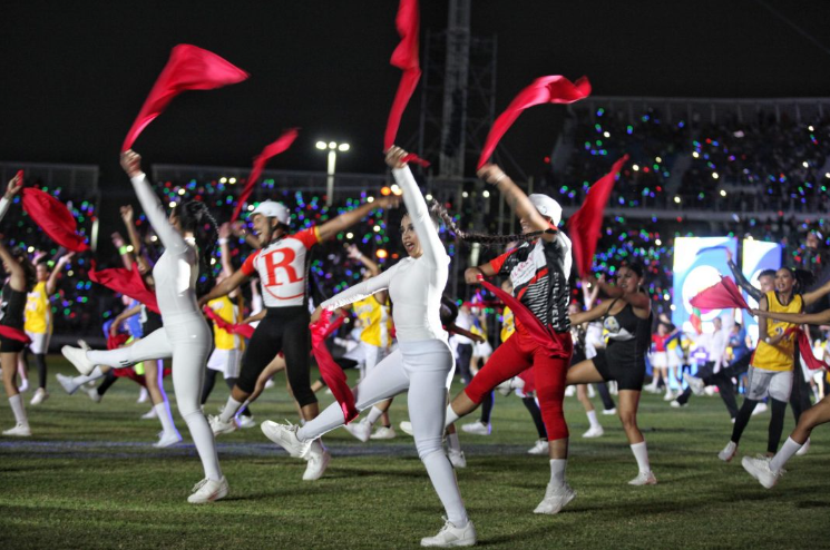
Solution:
[(196, 279), (198, 278), (198, 253), (196, 243), (185, 238), (167, 219), (162, 202), (150, 188), (147, 176), (130, 178), (153, 230), (164, 245), (164, 254), (153, 267), (156, 283), (156, 299), (162, 317), (183, 313), (198, 313)]

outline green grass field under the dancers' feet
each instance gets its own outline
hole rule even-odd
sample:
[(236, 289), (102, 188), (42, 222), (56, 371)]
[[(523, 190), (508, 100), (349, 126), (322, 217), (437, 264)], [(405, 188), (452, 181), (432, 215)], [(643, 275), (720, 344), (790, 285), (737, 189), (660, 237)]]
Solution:
[[(305, 463), (289, 458), (256, 429), (222, 436), (227, 499), (186, 502), (202, 478), (184, 421), (185, 443), (150, 446), (157, 421), (139, 420), (138, 386), (119, 381), (100, 404), (66, 395), (53, 380), (70, 373), (52, 359), (51, 399), (27, 406), (35, 435), (0, 438), (0, 548), (234, 549), (414, 548), (442, 526), (442, 509), (410, 438), (362, 444), (344, 430), (326, 435), (332, 461), (318, 482), (301, 480)], [(261, 420), (295, 419), (284, 379), (254, 404)], [(459, 390), (453, 385), (453, 394)], [(167, 391), (173, 395), (169, 380)], [(227, 390), (217, 386), (213, 412)], [(320, 395), (322, 404), (330, 395)], [(26, 394), (27, 404), (31, 393)], [(172, 402), (175, 400), (172, 399)], [(598, 400), (597, 400), (598, 402)], [(173, 403), (175, 414), (175, 402)], [(11, 411), (0, 409), (11, 426)], [(497, 395), (492, 434), (461, 434), (468, 466), (461, 493), (486, 548), (827, 548), (830, 429), (813, 434), (810, 453), (794, 458), (773, 490), (761, 488), (738, 460), (716, 453), (732, 424), (719, 397), (693, 397), (683, 410), (644, 395), (639, 424), (648, 441), (656, 487), (627, 484), (636, 472), (622, 428), (602, 416), (606, 435), (584, 440), (587, 420), (566, 402), (572, 430), (568, 479), (577, 499), (558, 515), (533, 513), (549, 478), (546, 458), (526, 450), (536, 439), (520, 401)], [(406, 396), (392, 409), (406, 420)], [(755, 416), (739, 455), (765, 449), (769, 414)], [(792, 429), (788, 412), (785, 433)]]

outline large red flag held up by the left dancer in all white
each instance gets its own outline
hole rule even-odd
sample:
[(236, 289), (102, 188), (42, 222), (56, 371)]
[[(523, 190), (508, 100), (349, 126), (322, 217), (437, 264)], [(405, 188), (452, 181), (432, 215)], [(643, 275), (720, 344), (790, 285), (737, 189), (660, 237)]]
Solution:
[(133, 147), (141, 131), (156, 119), (173, 98), (186, 90), (213, 90), (242, 82), (248, 73), (228, 63), (216, 53), (180, 43), (173, 48), (167, 65), (153, 85), (133, 127), (124, 139), (121, 150)]

